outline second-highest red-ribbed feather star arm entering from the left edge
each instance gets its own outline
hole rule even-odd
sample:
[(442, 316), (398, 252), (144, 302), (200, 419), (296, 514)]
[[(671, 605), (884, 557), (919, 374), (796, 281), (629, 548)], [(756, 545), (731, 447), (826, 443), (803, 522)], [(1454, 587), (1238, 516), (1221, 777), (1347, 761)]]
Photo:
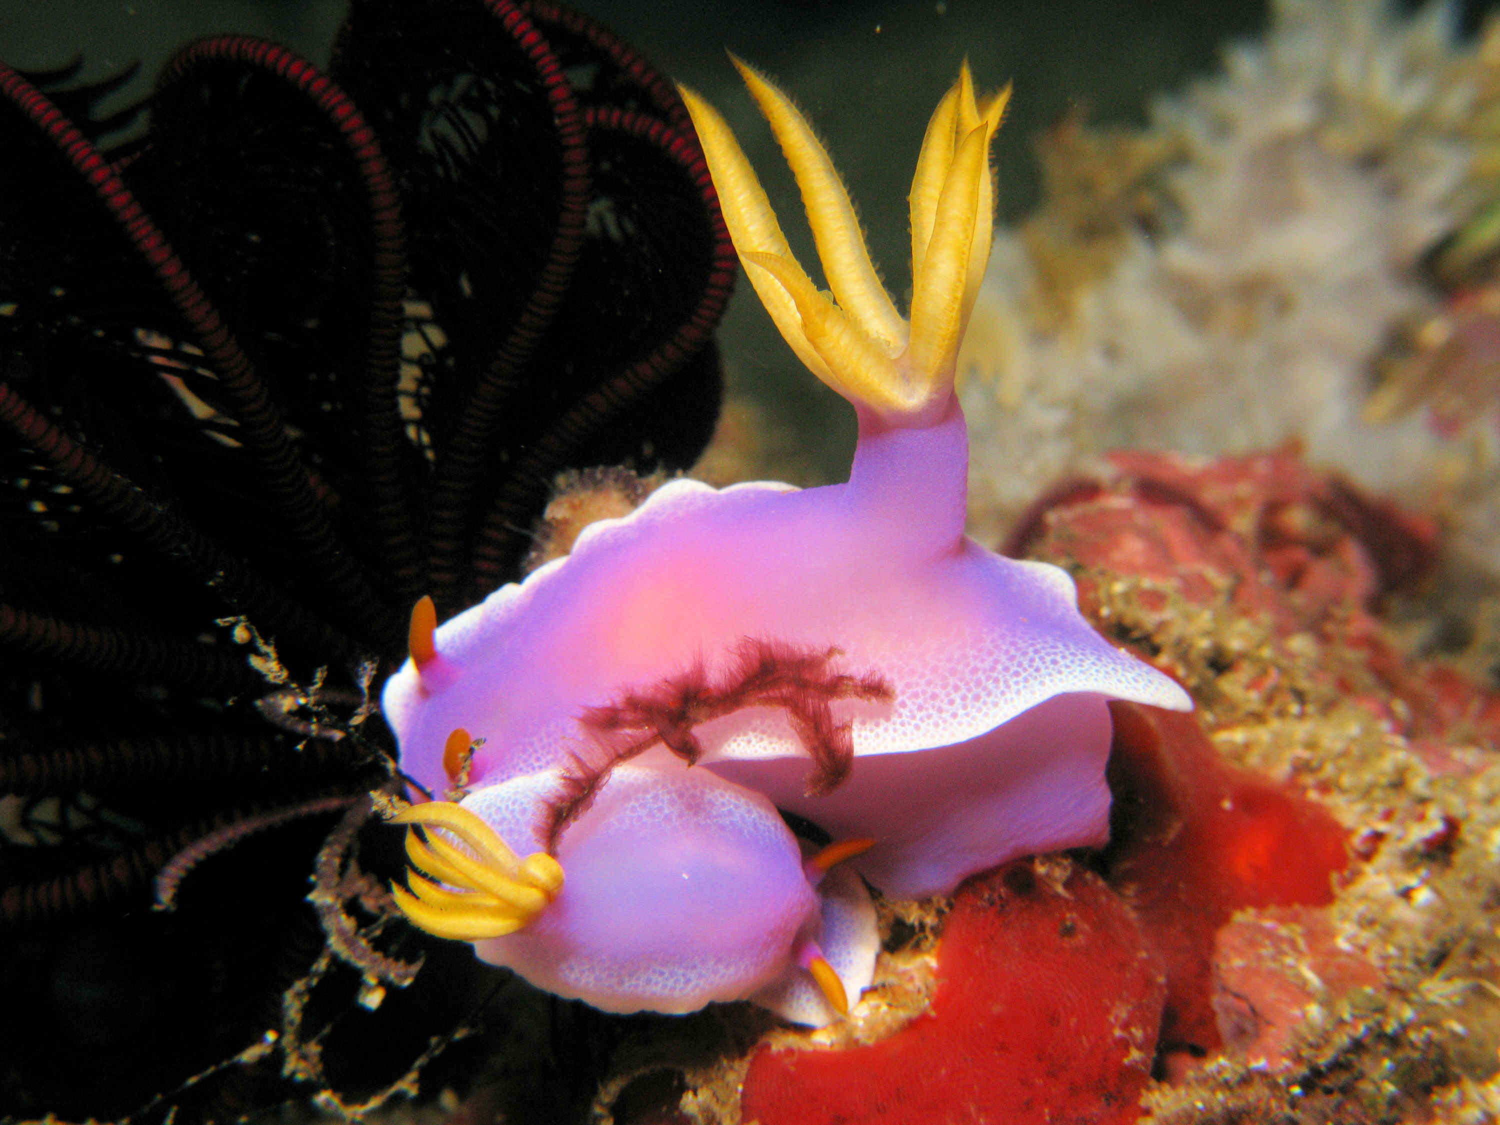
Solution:
[(99, 512), (140, 536), (147, 548), (186, 562), (186, 570), (212, 585), (231, 609), (254, 618), (267, 636), (300, 644), (324, 658), (358, 660), (360, 646), (352, 639), (309, 614), (192, 524), (148, 500), (4, 382), (0, 382), (0, 424), (45, 460), (58, 478), (93, 501)]

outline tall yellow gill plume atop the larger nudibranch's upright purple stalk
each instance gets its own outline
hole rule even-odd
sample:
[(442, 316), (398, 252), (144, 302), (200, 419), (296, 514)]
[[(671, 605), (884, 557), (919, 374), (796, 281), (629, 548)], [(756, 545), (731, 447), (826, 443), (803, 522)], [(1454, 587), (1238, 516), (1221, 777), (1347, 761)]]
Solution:
[(880, 285), (838, 172), (790, 99), (738, 58), (746, 86), (792, 166), (818, 256), (820, 292), (792, 256), (771, 204), (724, 118), (686, 87), (740, 261), (782, 336), (846, 399), (890, 422), (934, 422), (952, 393), (958, 345), (990, 256), (990, 141), (1010, 87), (976, 102), (969, 64), (938, 104), (912, 182), (912, 309), (902, 320)]

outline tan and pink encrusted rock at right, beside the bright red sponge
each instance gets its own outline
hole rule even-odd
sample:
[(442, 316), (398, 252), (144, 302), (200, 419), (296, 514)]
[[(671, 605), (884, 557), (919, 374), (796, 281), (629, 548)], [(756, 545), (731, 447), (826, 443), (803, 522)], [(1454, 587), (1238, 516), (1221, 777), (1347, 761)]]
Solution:
[[(1221, 770), (1308, 794), (1353, 854), (1332, 894), (1306, 896), (1304, 876), (1281, 898), (1300, 906), (1242, 900), (1257, 909), (1216, 928), (1206, 999), (1224, 1050), (1164, 1054), (1178, 1082), (1148, 1092), (1150, 1119), (1492, 1119), (1500, 696), (1406, 657), (1371, 612), (1422, 573), (1430, 528), (1286, 453), (1114, 460), (1096, 492), (1035, 516), (1032, 550), (1071, 558), (1096, 624), (1194, 692)], [(1104, 552), (1108, 570), (1078, 558)], [(1262, 886), (1312, 868), (1320, 838), (1288, 832)]]

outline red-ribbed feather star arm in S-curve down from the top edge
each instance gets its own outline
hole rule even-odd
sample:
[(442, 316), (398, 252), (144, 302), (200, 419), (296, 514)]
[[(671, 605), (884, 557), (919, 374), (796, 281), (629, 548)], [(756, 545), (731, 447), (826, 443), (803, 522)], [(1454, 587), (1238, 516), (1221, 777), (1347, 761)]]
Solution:
[(459, 608), (464, 597), (460, 567), (468, 549), (466, 526), (486, 444), (495, 432), (506, 400), (520, 387), (522, 374), (542, 334), (562, 306), (562, 297), (584, 248), (590, 202), (590, 158), (584, 117), (558, 57), (512, 0), (484, 0), (484, 8), (500, 20), (506, 33), (516, 40), (536, 68), (552, 105), (562, 147), (561, 206), (552, 246), (537, 274), (531, 298), (500, 351), (476, 381), (468, 402), (458, 411), (458, 428), (438, 465), (429, 525), (429, 573), (432, 596), (442, 610)]

